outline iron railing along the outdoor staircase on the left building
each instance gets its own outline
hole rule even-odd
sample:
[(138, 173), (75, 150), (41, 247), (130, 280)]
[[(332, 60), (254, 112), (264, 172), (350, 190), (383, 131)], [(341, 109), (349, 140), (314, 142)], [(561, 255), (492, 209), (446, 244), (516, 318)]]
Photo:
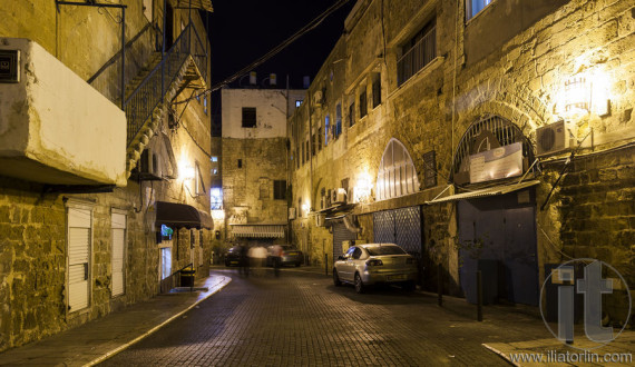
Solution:
[(141, 130), (146, 120), (150, 118), (155, 108), (163, 102), (187, 57), (192, 57), (203, 79), (206, 79), (207, 52), (192, 22), (180, 32), (174, 44), (163, 56), (162, 61), (124, 101), (124, 111), (128, 120), (128, 146)]

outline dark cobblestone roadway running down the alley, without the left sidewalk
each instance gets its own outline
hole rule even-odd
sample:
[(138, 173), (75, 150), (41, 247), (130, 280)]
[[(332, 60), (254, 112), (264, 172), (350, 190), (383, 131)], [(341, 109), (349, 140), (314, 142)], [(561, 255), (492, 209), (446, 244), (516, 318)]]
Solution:
[(509, 325), (477, 323), (460, 310), (439, 308), (431, 295), (397, 288), (358, 295), (323, 275), (217, 274), (234, 280), (104, 365), (505, 366), (481, 344), (525, 340), (527, 325), (535, 326), (534, 334), (544, 329), (524, 315)]

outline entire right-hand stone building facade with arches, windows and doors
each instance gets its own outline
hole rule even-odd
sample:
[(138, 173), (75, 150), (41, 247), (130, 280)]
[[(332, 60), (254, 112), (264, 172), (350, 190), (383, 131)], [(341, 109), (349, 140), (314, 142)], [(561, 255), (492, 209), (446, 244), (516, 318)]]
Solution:
[(289, 119), (294, 241), (395, 241), (468, 300), (489, 267), (538, 305), (574, 258), (633, 287), (634, 30), (632, 1), (359, 0)]

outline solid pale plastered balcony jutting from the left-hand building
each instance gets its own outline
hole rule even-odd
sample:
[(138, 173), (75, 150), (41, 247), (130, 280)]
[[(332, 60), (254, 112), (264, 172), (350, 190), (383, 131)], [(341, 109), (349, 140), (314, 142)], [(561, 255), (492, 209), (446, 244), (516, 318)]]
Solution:
[[(0, 175), (48, 185), (126, 186), (124, 111), (38, 43), (3, 41)], [(18, 56), (14, 63), (11, 56)], [(17, 67), (17, 80), (7, 80), (8, 67)]]

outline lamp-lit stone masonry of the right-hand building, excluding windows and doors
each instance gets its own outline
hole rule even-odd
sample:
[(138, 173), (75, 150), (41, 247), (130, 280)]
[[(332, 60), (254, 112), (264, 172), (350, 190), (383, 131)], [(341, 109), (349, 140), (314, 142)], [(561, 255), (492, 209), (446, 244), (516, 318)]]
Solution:
[[(342, 101), (343, 119), (348, 120), (348, 105), (351, 100), (359, 103), (360, 92), (367, 90), (368, 116), (360, 118), (355, 106), (355, 125), (346, 123), (338, 141), (294, 169), (293, 206), (299, 206), (301, 198), (319, 210), (321, 187), (335, 187), (344, 178), (355, 186), (360, 172), (367, 172), (374, 185), (383, 149), (391, 138), (408, 149), (420, 182), (424, 171), (422, 156), (436, 151), (437, 187), (422, 187), (419, 195), (406, 199), (359, 205), (352, 214), (368, 217), (377, 210), (422, 205), (447, 187), (456, 147), (468, 127), (481, 117), (497, 115), (511, 121), (529, 138), (534, 149), (536, 129), (565, 118), (576, 127), (577, 141), (584, 141), (577, 152), (579, 158), (574, 160), (572, 171), (545, 210), (539, 207), (570, 151), (540, 159), (543, 170), (537, 176), (540, 185), (536, 199), (539, 281), (545, 277), (544, 265), (559, 264), (566, 260), (561, 255), (566, 254), (613, 264), (635, 284), (628, 267), (635, 244), (631, 189), (634, 176), (632, 161), (625, 158), (633, 155), (627, 145), (635, 140), (633, 3), (525, 4), (498, 0), (469, 21), (465, 20), (462, 1), (400, 1), (384, 2), (383, 7), (377, 1), (358, 1), (346, 19), (346, 34), (309, 91), (313, 96), (326, 88), (325, 106), (303, 106), (289, 121), (291, 145), (301, 147), (299, 142), (310, 139), (310, 129), (320, 123), (323, 127), (325, 113), (333, 115), (338, 101)], [(437, 58), (398, 85), (397, 63), (402, 46), (432, 19)], [(375, 72), (381, 73), (382, 102), (372, 108)], [(596, 97), (588, 113), (565, 113), (564, 85), (574, 77), (584, 77), (594, 88), (600, 87), (599, 92), (594, 89)], [(606, 106), (607, 99), (610, 108), (606, 113), (598, 107)], [(584, 139), (592, 130), (593, 135)], [(618, 150), (609, 152), (613, 148)], [(304, 231), (312, 234), (314, 242), (309, 245), (319, 255), (321, 240), (332, 241), (332, 235), (314, 229), (310, 217), (311, 214), (295, 220), (293, 228), (297, 239)], [(427, 276), (436, 277), (433, 269), (440, 265), (448, 276), (450, 292), (460, 294), (456, 205), (424, 206), (423, 217), (423, 248), (430, 269)], [(368, 218), (361, 222), (370, 227)], [(329, 250), (329, 245), (325, 248)], [(436, 280), (430, 284), (426, 287), (433, 289)]]

